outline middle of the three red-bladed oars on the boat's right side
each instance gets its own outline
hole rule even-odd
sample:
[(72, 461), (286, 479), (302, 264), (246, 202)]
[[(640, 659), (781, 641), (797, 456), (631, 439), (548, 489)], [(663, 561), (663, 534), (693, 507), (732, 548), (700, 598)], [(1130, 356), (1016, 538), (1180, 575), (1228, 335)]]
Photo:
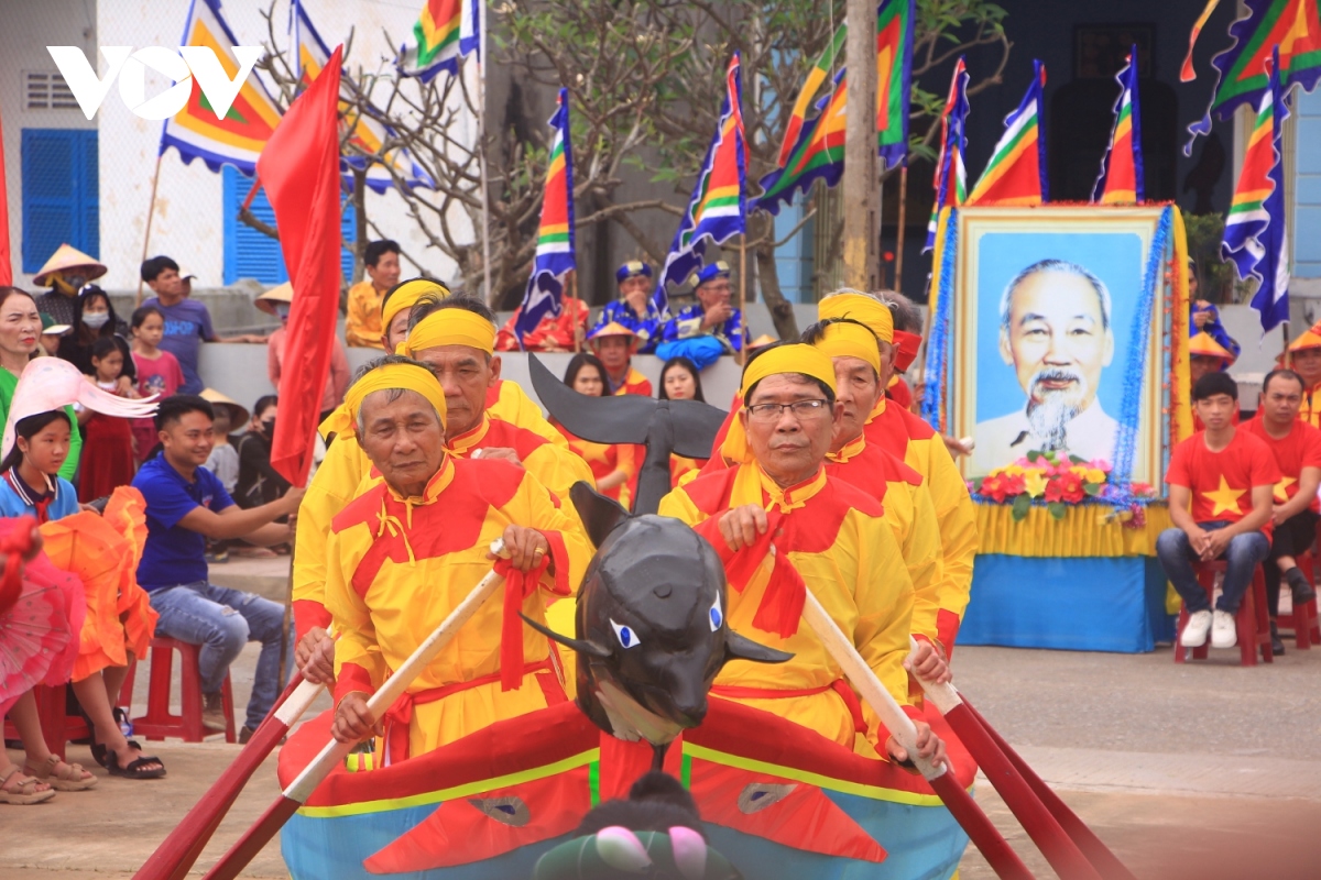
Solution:
[[(910, 646), (917, 643), (909, 639)], [(1099, 867), (1090, 862), (1077, 842), (1065, 831), (1059, 819), (1052, 814), (1040, 797), (1032, 790), (1022, 774), (1013, 767), (1009, 757), (995, 744), (987, 730), (968, 711), (954, 685), (925, 681), (914, 676), (922, 685), (926, 698), (950, 723), (950, 728), (967, 747), (991, 785), (1004, 798), (1005, 806), (1013, 813), (1028, 833), (1032, 842), (1041, 850), (1050, 867), (1061, 880), (1100, 880)], [(1107, 877), (1116, 876), (1112, 872)]]

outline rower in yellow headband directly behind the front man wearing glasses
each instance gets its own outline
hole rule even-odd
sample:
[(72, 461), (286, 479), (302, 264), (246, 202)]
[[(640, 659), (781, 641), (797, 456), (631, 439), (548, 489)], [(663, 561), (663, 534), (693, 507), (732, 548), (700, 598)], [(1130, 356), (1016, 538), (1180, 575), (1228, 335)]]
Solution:
[(852, 318), (828, 318), (803, 331), (803, 343), (830, 355), (835, 365), (835, 393), (843, 406), (826, 474), (852, 483), (885, 508), (885, 521), (904, 553), (915, 595), (913, 636), (918, 641), (913, 672), (925, 679), (946, 681), (948, 669), (935, 649), (937, 615), (945, 577), (941, 559), (941, 524), (921, 474), (867, 441), (867, 416), (885, 394), (881, 354), (876, 334)]

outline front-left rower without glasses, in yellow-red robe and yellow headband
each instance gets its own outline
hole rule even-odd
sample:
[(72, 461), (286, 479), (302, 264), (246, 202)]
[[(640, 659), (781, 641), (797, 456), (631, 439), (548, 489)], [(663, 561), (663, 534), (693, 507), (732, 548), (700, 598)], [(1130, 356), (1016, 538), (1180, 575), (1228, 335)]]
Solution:
[[(544, 621), (544, 594), (567, 596), (592, 549), (535, 476), (445, 446), (445, 394), (423, 364), (387, 356), (349, 389), (354, 441), (382, 479), (333, 520), (326, 607), (338, 632), (334, 736), (358, 741), (383, 723), (387, 761), (433, 751), (507, 718), (565, 699), (548, 640), (514, 620)], [(531, 573), (520, 608), (489, 602), (384, 715), (367, 699), (490, 570), (503, 538), (509, 567)], [(506, 588), (517, 588), (513, 584)]]

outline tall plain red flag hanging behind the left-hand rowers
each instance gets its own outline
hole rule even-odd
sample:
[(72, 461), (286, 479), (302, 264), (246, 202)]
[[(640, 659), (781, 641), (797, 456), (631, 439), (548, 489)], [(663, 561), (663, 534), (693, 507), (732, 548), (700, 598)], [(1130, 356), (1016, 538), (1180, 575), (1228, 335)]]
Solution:
[(339, 310), (339, 62), (289, 107), (256, 162), (293, 284), (271, 467), (306, 483)]

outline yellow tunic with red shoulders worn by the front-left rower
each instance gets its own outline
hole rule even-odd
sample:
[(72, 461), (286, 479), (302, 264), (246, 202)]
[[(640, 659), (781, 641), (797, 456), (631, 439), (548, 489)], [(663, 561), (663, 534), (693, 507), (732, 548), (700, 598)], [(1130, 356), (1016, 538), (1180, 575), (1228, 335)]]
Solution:
[[(336, 702), (374, 693), (491, 569), (486, 550), (510, 524), (538, 529), (551, 542), (555, 571), (523, 613), (544, 621), (544, 592), (577, 590), (592, 548), (551, 493), (507, 462), (445, 458), (425, 496), (402, 499), (378, 483), (334, 519), (326, 607), (341, 633), (336, 645)], [(563, 699), (550, 643), (523, 627), (523, 660), (536, 666), (517, 690), (499, 683), (502, 603), (486, 602), (410, 686), (408, 755), (421, 755), (494, 722)], [(472, 685), (478, 679), (485, 683)], [(436, 698), (433, 691), (454, 687)], [(432, 691), (428, 694), (428, 691)], [(402, 730), (407, 714), (390, 723)], [(387, 732), (391, 743), (396, 740)], [(404, 755), (391, 748), (391, 760)]]

